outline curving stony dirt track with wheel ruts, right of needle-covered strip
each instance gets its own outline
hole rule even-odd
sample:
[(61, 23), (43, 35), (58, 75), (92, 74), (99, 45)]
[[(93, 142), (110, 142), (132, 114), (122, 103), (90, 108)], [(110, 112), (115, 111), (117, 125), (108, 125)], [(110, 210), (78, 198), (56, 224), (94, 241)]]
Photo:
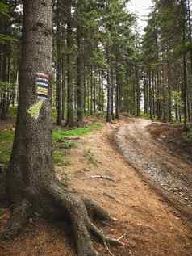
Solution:
[(129, 119), (119, 127), (115, 141), (127, 162), (191, 225), (192, 166), (155, 141), (147, 130), (150, 124), (150, 120)]

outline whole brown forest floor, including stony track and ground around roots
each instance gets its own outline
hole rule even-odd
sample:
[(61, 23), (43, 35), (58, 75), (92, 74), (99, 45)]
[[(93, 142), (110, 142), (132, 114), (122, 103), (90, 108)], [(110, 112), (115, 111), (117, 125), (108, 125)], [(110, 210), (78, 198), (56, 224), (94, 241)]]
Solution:
[[(163, 125), (128, 118), (106, 124), (76, 138), (67, 164), (56, 166), (61, 181), (117, 219), (115, 225), (100, 226), (112, 237), (122, 237), (125, 246), (109, 247), (115, 256), (192, 255), (190, 158), (169, 148), (165, 138), (171, 128)], [(0, 229), (8, 217), (5, 212)], [(110, 255), (105, 246), (94, 246), (101, 255)], [(37, 216), (14, 241), (0, 242), (0, 255), (73, 256), (74, 247), (67, 224), (49, 224)]]

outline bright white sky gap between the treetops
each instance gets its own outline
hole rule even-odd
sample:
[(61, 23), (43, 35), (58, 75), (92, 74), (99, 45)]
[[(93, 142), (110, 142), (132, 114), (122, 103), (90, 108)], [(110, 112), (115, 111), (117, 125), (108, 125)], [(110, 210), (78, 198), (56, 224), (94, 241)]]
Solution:
[(151, 0), (131, 0), (128, 4), (129, 10), (136, 12), (139, 15), (138, 23), (141, 30), (147, 25), (147, 16), (149, 13), (149, 6), (151, 5)]

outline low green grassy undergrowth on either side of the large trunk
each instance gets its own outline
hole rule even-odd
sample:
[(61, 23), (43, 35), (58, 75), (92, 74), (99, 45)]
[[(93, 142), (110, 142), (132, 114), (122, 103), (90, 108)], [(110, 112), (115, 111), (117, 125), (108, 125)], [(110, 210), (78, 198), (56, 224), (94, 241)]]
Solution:
[[(102, 123), (93, 123), (82, 128), (72, 130), (53, 129), (52, 130), (52, 157), (56, 165), (66, 166), (69, 162), (66, 155), (69, 150), (77, 145), (77, 142), (67, 139), (67, 136), (83, 136), (94, 130), (101, 129)], [(7, 164), (10, 160), (12, 143), (14, 140), (13, 130), (0, 131), (0, 163)]]

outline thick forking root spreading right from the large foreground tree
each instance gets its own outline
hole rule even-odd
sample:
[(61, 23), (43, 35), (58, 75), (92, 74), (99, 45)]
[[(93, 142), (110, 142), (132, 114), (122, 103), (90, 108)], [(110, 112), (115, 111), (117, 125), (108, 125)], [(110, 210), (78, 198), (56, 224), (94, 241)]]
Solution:
[[(96, 256), (90, 233), (98, 237), (104, 245), (113, 244), (123, 246), (123, 243), (111, 237), (107, 237), (90, 220), (90, 216), (97, 216), (100, 220), (113, 220), (98, 204), (90, 199), (67, 192), (62, 193), (61, 187), (54, 187), (52, 191), (57, 204), (67, 210), (73, 226), (73, 233), (77, 241), (78, 256)], [(90, 213), (90, 214), (89, 214)]]

